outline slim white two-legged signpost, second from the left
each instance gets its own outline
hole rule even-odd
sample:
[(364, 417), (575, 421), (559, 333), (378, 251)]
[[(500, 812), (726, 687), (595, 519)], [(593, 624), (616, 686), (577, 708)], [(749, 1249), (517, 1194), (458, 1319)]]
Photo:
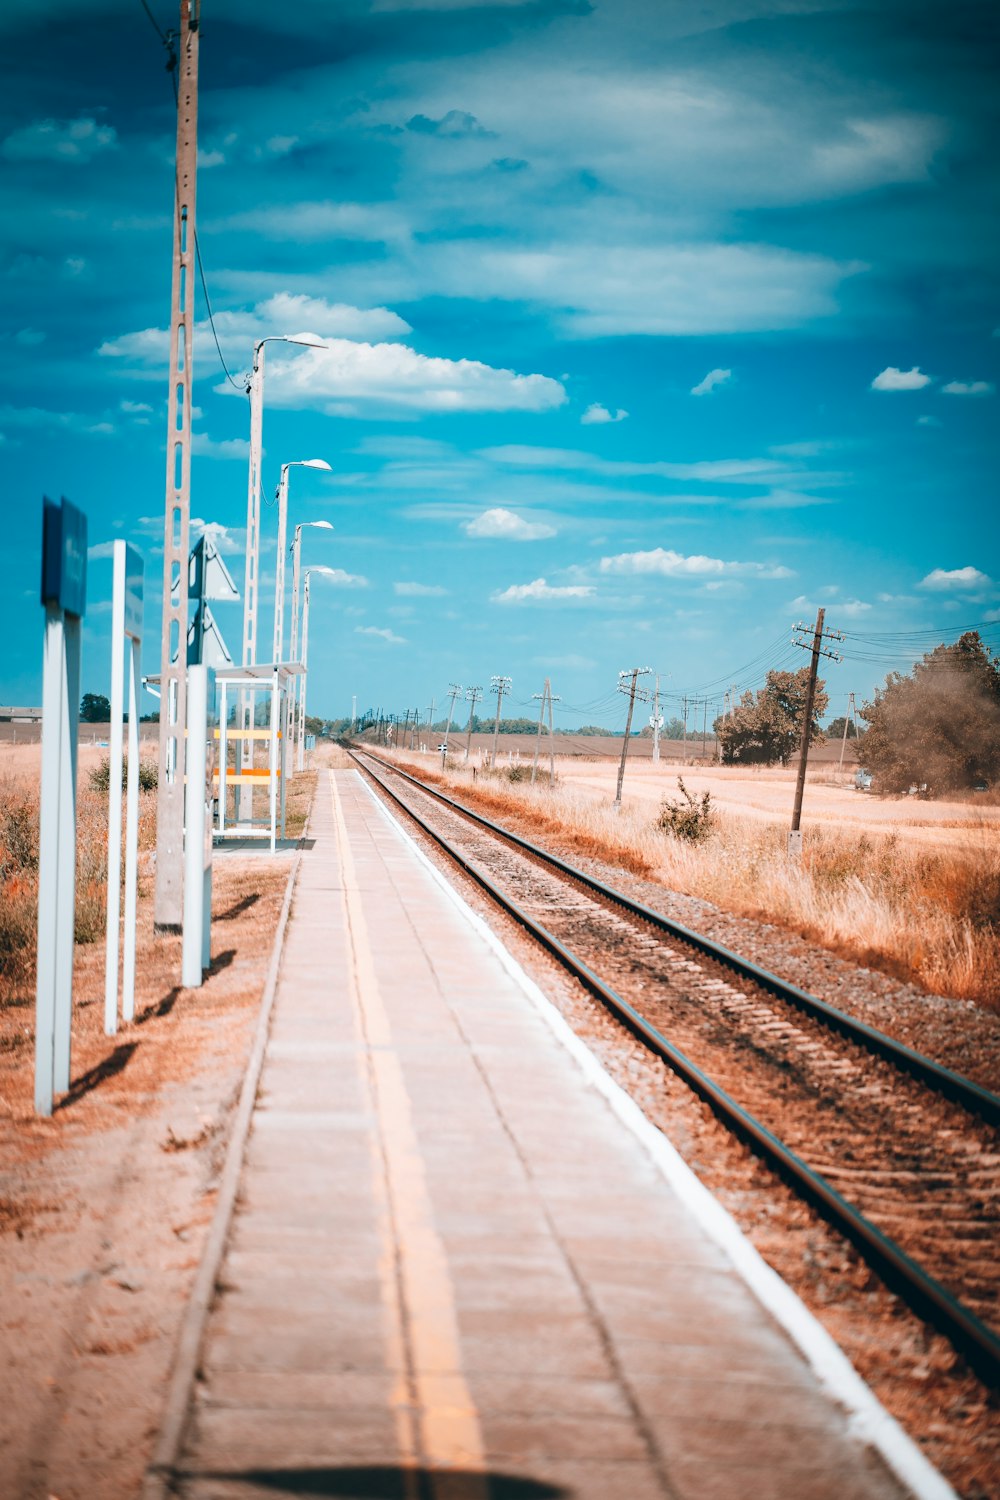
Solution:
[(121, 716), (124, 642), (129, 640), (129, 786), (124, 808), (124, 957), (121, 1018), (135, 1018), (135, 909), (139, 849), (139, 687), (142, 656), (142, 556), (114, 543), (111, 592), (111, 736), (108, 758), (108, 933), (105, 940), (103, 1029), (118, 1029), (118, 915), (121, 910)]

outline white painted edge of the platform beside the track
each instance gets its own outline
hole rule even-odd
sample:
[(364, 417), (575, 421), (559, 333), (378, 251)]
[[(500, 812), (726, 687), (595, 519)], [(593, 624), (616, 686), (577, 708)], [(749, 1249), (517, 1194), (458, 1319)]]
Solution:
[[(361, 776), (361, 772), (354, 772)], [(615, 1114), (633, 1132), (640, 1144), (649, 1152), (655, 1166), (667, 1179), (696, 1222), (705, 1230), (708, 1238), (729, 1257), (736, 1272), (751, 1288), (757, 1300), (768, 1310), (774, 1320), (786, 1330), (789, 1338), (805, 1354), (820, 1384), (844, 1408), (849, 1418), (849, 1430), (862, 1443), (870, 1444), (882, 1455), (892, 1473), (912, 1491), (916, 1500), (958, 1500), (955, 1490), (945, 1476), (924, 1456), (913, 1438), (891, 1416), (879, 1401), (874, 1390), (862, 1380), (840, 1344), (826, 1332), (819, 1318), (805, 1306), (801, 1298), (786, 1281), (772, 1270), (768, 1262), (751, 1245), (733, 1216), (696, 1178), (688, 1164), (675, 1146), (658, 1130), (652, 1120), (646, 1119), (636, 1101), (618, 1084), (603, 1068), (589, 1047), (580, 1041), (568, 1022), (562, 1017), (552, 1000), (538, 988), (535, 981), (522, 969), (514, 956), (507, 951), (496, 933), (472, 910), (465, 898), (445, 879), (438, 867), (427, 858), (420, 844), (397, 822), (382, 801), (375, 795), (370, 784), (361, 777), (361, 784), (369, 794), (379, 813), (412, 848), (420, 862), (430, 873), (436, 885), (448, 896), (453, 904), (462, 912), (471, 927), (483, 938), (486, 945), (496, 954), (502, 968), (523, 990), (538, 1014), (549, 1024), (555, 1036), (562, 1042), (576, 1060), (588, 1083), (604, 1096)]]

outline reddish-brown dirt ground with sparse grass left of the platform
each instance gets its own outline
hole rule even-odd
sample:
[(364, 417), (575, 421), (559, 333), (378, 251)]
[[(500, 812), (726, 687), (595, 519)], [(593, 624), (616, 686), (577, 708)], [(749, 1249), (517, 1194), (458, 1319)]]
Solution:
[[(150, 747), (151, 748), (151, 747)], [(81, 746), (81, 771), (100, 758)], [(16, 765), (10, 765), (16, 756)], [(0, 776), (36, 747), (1, 747)], [(289, 796), (300, 816), (313, 777)], [(103, 1034), (103, 944), (76, 946), (72, 1086), (33, 1113), (33, 998), (0, 1008), (0, 1494), (142, 1482), (294, 855), (214, 861), (213, 964), (184, 990), (141, 878), (136, 1020)]]

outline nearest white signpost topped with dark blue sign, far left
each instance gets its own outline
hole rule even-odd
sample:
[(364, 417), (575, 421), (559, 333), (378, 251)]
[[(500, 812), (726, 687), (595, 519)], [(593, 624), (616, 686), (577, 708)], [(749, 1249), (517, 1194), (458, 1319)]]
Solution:
[(76, 726), (79, 636), (87, 608), (87, 518), (43, 502), (42, 818), (34, 992), (34, 1108), (52, 1113), (69, 1088), (76, 903)]

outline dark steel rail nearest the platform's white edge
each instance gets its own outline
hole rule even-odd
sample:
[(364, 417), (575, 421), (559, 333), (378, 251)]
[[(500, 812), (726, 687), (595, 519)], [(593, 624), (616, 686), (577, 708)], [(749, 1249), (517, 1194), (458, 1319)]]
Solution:
[[(385, 762), (378, 760), (379, 765)], [(364, 765), (363, 760), (358, 760)], [(394, 766), (387, 766), (396, 770)], [(718, 1118), (807, 1198), (823, 1218), (849, 1239), (873, 1266), (886, 1286), (897, 1292), (913, 1311), (933, 1323), (951, 1344), (967, 1359), (969, 1365), (990, 1386), (1000, 1388), (1000, 1338), (987, 1328), (975, 1312), (952, 1296), (934, 1276), (924, 1270), (907, 1252), (883, 1234), (870, 1220), (859, 1214), (840, 1196), (826, 1178), (802, 1161), (789, 1146), (739, 1106), (708, 1074), (691, 1062), (678, 1047), (657, 1030), (633, 1005), (601, 980), (588, 964), (576, 957), (559, 939), (534, 916), (529, 916), (516, 902), (511, 902), (493, 880), (466, 855), (436, 832), (420, 813), (414, 812), (387, 783), (375, 776), (370, 766), (364, 770), (372, 780), (432, 838), (466, 874), (480, 885), (493, 902), (513, 916), (531, 936), (564, 964), (598, 1000), (639, 1036), (667, 1066), (690, 1084), (690, 1088), (718, 1114)], [(429, 790), (415, 777), (400, 772), (421, 790)], [(448, 801), (448, 798), (442, 798)]]

